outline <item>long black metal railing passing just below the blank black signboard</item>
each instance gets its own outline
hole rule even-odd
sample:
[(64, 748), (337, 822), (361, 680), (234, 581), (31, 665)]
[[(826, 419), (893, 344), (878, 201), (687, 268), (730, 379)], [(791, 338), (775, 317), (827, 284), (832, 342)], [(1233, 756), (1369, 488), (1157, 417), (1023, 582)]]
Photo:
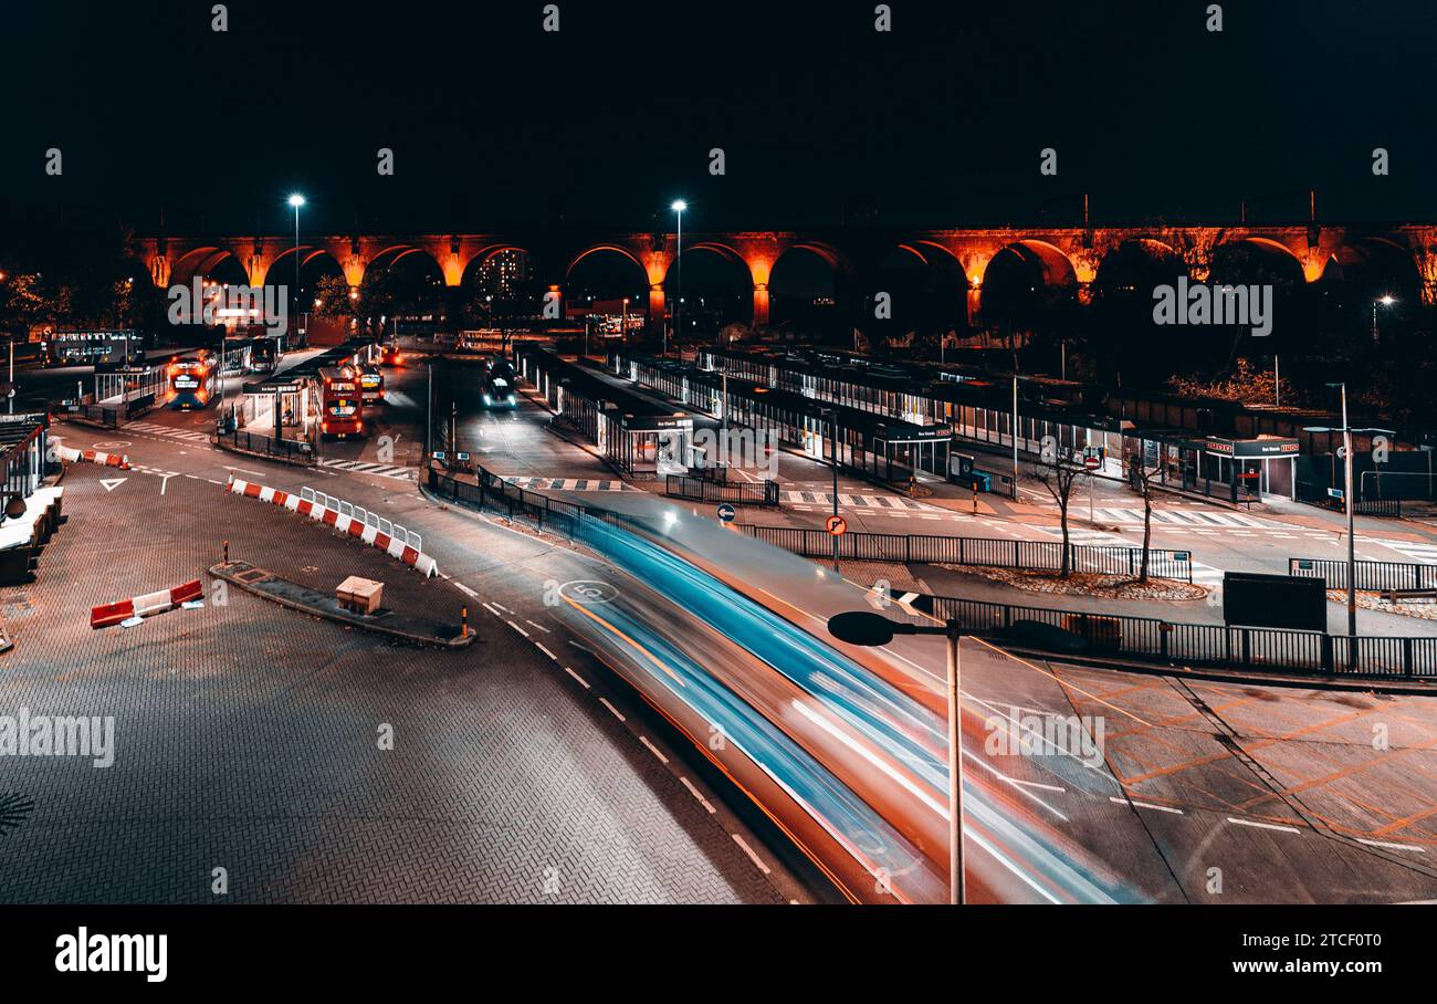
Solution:
[[(923, 623), (920, 614), (888, 616)], [(1187, 624), (1152, 617), (934, 597), (933, 616), (964, 630), (999, 634), (1016, 621), (1039, 621), (1086, 639), (1094, 654), (1174, 666), (1232, 666), (1263, 672), (1437, 677), (1437, 636), (1349, 637), (1273, 627)]]

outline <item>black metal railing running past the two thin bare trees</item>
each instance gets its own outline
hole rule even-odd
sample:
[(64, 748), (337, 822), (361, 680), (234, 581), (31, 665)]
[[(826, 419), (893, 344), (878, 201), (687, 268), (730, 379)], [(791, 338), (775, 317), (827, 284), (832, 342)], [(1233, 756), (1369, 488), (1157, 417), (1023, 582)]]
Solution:
[[(795, 526), (740, 526), (749, 537), (806, 558), (832, 558), (833, 537), (822, 529)], [(987, 537), (934, 537), (927, 534), (842, 534), (838, 557), (848, 561), (892, 561), (898, 564), (989, 565), (1029, 571), (1061, 571), (1062, 541), (1004, 541)], [(1068, 545), (1069, 568), (1104, 575), (1137, 575), (1142, 548)], [(1154, 578), (1193, 581), (1191, 554), (1148, 551), (1148, 574)]]

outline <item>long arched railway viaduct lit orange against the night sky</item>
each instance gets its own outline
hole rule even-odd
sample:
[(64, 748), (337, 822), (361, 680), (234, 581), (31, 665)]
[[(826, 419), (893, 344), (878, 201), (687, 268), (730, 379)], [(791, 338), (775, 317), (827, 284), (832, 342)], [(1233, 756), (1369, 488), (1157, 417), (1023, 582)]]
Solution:
[[(1420, 292), (1424, 304), (1437, 304), (1437, 226), (1163, 226), (1095, 229), (957, 229), (888, 230), (848, 229), (812, 232), (697, 232), (684, 233), (683, 250), (721, 255), (741, 265), (753, 285), (753, 321), (769, 319), (769, 282), (779, 259), (803, 249), (822, 257), (836, 275), (868, 293), (881, 289), (878, 265), (895, 252), (915, 256), (941, 269), (946, 282), (964, 289), (970, 316), (979, 309), (984, 275), (999, 255), (1027, 262), (1032, 275), (1050, 286), (1071, 288), (1085, 301), (1104, 260), (1124, 245), (1138, 243), (1160, 257), (1177, 257), (1197, 280), (1207, 280), (1214, 255), (1224, 247), (1247, 246), (1276, 259), (1306, 282), (1342, 278), (1348, 269), (1391, 276)], [(664, 315), (664, 282), (675, 260), (674, 233), (457, 233), (388, 236), (300, 236), (300, 262), (329, 256), (356, 286), (366, 269), (407, 255), (427, 255), (448, 286), (463, 282), (466, 269), (507, 249), (529, 255), (533, 275), (562, 291), (573, 266), (589, 255), (614, 253), (642, 269), (648, 280), (650, 318)], [(293, 268), (295, 240), (286, 236), (137, 236), (131, 255), (145, 262), (158, 286), (188, 283), (208, 275), (234, 256), (253, 286), (285, 285)]]

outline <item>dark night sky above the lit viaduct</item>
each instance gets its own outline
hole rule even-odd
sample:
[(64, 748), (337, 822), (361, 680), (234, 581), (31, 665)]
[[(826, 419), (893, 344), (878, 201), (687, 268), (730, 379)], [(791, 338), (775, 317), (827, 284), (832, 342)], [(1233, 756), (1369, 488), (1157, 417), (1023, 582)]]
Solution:
[[(7, 3), (7, 214), (148, 230), (1433, 220), (1430, 0)], [(1371, 173), (1374, 147), (1391, 175)], [(45, 150), (65, 173), (46, 177)], [(375, 151), (395, 151), (394, 177)], [(721, 147), (727, 174), (710, 177)], [(1058, 150), (1056, 178), (1039, 151)]]

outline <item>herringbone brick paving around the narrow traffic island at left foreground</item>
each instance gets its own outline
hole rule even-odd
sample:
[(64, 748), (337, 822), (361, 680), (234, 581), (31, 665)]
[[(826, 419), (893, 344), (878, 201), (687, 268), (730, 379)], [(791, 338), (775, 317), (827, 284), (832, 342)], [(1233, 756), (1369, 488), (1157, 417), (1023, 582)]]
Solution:
[[(239, 590), (92, 631), (88, 608), (218, 558), (385, 606), (466, 601), (374, 548), (203, 480), (66, 479), (37, 583), (0, 590), (0, 715), (115, 716), (115, 764), (0, 758), (0, 902), (777, 902), (678, 781), (490, 619), (463, 652), (391, 644)], [(208, 583), (207, 583), (208, 585)], [(473, 613), (473, 611), (471, 611)], [(394, 729), (394, 749), (378, 729)], [(213, 870), (228, 895), (211, 892)]]

